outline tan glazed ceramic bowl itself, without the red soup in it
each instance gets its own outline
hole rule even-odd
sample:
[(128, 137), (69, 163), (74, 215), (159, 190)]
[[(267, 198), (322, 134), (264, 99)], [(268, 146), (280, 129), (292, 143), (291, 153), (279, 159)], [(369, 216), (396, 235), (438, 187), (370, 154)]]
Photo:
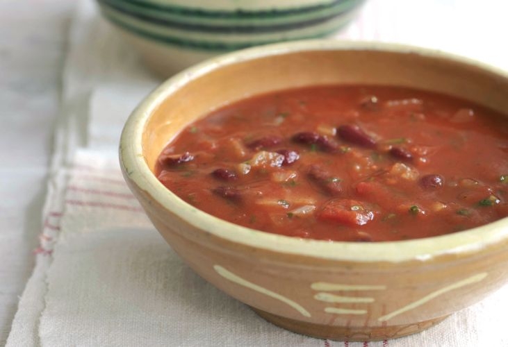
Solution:
[(508, 74), (411, 46), (306, 41), (230, 53), (181, 72), (126, 123), (124, 178), (167, 243), (200, 276), (288, 330), (327, 339), (391, 339), (482, 300), (508, 280), (508, 219), (400, 242), (303, 240), (197, 210), (152, 174), (161, 150), (211, 110), (306, 85), (434, 90), (508, 110)]

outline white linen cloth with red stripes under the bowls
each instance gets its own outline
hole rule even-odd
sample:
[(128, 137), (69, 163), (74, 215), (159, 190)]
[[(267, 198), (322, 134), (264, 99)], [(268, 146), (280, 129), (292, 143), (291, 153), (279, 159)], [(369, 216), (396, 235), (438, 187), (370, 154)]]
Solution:
[[(408, 9), (405, 2), (391, 1), (398, 10)], [(390, 25), (380, 24), (389, 17), (380, 4), (371, 0), (339, 37), (408, 42), (400, 26), (409, 23), (389, 14)], [(422, 38), (412, 43), (430, 46), (415, 32)], [(79, 1), (69, 37), (37, 264), (7, 346), (508, 346), (508, 286), (418, 335), (347, 343), (277, 328), (208, 285), (151, 226), (117, 163), (122, 124), (160, 81), (91, 0)], [(444, 37), (432, 46), (446, 43)], [(452, 49), (472, 53), (469, 46)], [(477, 58), (507, 67), (506, 52), (482, 54)]]

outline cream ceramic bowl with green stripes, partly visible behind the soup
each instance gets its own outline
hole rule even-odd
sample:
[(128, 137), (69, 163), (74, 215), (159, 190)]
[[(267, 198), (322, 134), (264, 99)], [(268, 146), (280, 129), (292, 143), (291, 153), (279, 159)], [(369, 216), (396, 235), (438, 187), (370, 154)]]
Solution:
[(170, 76), (218, 53), (333, 35), (363, 0), (98, 0), (147, 65)]

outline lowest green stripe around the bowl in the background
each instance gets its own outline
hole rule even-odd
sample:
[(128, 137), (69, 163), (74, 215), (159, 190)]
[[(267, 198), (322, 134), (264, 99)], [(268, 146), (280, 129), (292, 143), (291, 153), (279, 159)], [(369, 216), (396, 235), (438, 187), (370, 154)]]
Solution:
[(170, 35), (160, 35), (156, 33), (152, 33), (150, 31), (145, 31), (140, 28), (136, 28), (136, 26), (131, 26), (129, 24), (126, 24), (118, 19), (116, 19), (114, 16), (111, 16), (103, 11), (103, 15), (113, 24), (118, 26), (119, 28), (129, 31), (133, 34), (136, 34), (140, 37), (144, 37), (149, 40), (153, 40), (156, 42), (161, 42), (163, 44), (168, 44), (172, 46), (177, 46), (179, 48), (183, 49), (196, 49), (200, 51), (210, 51), (215, 53), (225, 52), (225, 51), (235, 51), (237, 49), (244, 49), (250, 46), (259, 46), (262, 44), (270, 44), (280, 41), (287, 41), (287, 40), (306, 40), (306, 39), (316, 39), (320, 37), (328, 37), (336, 31), (338, 31), (340, 28), (345, 26), (348, 21), (341, 22), (341, 24), (337, 24), (336, 26), (332, 28), (328, 28), (325, 31), (320, 31), (313, 33), (311, 35), (301, 35), (295, 38), (286, 38), (286, 39), (275, 39), (275, 40), (252, 40), (250, 42), (213, 42), (213, 41), (206, 41), (206, 40), (188, 40), (177, 36), (170, 36)]

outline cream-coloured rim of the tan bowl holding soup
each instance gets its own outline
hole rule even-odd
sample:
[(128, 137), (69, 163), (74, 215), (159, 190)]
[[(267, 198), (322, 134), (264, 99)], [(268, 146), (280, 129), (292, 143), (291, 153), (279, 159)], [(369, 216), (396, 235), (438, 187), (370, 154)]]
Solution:
[[(152, 174), (142, 151), (142, 133), (150, 115), (164, 99), (192, 82), (227, 65), (255, 60), (268, 56), (301, 51), (387, 51), (393, 53), (417, 53), (429, 58), (453, 60), (465, 65), (474, 65), (485, 71), (508, 79), (508, 72), (483, 62), (406, 44), (384, 42), (351, 42), (338, 40), (302, 40), (266, 46), (256, 46), (208, 59), (167, 79), (151, 92), (133, 110), (127, 119), (120, 139), (120, 164), (127, 180), (138, 189), (154, 198), (163, 208), (179, 215), (184, 221), (199, 230), (230, 242), (261, 248), (265, 251), (302, 255), (323, 260), (351, 262), (408, 262), (432, 260), (442, 255), (459, 255), (480, 252), (500, 241), (508, 240), (508, 217), (448, 235), (409, 239), (395, 242), (328, 242), (316, 239), (299, 239), (269, 232), (254, 230), (230, 223), (202, 212), (170, 192)], [(128, 173), (128, 174), (127, 174)], [(127, 177), (128, 176), (128, 177)], [(205, 227), (206, 226), (206, 227)]]

